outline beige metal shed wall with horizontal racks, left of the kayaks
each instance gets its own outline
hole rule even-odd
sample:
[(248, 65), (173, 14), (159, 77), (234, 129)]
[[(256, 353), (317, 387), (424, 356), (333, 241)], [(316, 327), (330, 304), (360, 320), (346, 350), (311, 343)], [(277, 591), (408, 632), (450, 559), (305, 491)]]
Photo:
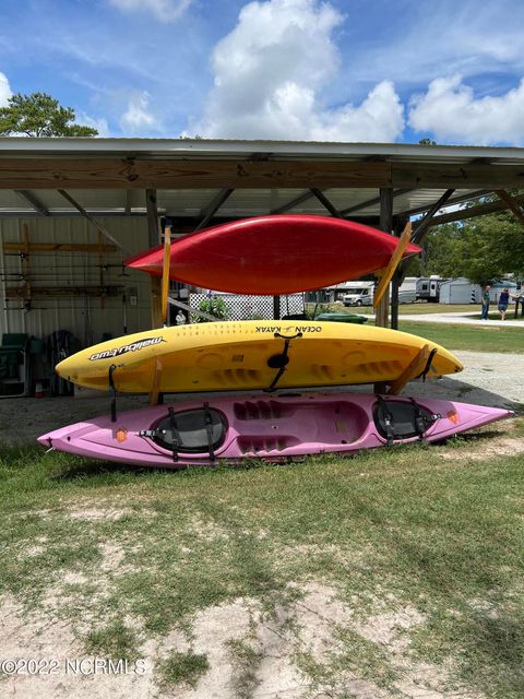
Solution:
[[(99, 218), (111, 235), (131, 252), (145, 250), (147, 224), (145, 217)], [(106, 252), (100, 260), (97, 252), (32, 252), (24, 261), (20, 253), (8, 253), (4, 242), (24, 242), (24, 225), (31, 242), (66, 242), (98, 245), (97, 230), (81, 216), (0, 218), (0, 336), (5, 332), (25, 332), (45, 337), (56, 330), (69, 330), (83, 346), (102, 341), (104, 333), (114, 337), (151, 327), (151, 286), (146, 274), (122, 268), (121, 251)], [(102, 238), (103, 244), (108, 244)], [(100, 261), (108, 264), (100, 277)], [(112, 266), (114, 265), (114, 266)], [(21, 286), (20, 275), (28, 272), (32, 297), (31, 309), (24, 300), (7, 298), (7, 288)], [(16, 276), (19, 275), (19, 276)], [(38, 288), (60, 286), (120, 286), (116, 297), (38, 295)], [(135, 292), (135, 293), (134, 293)], [(123, 298), (126, 297), (126, 303)], [(132, 305), (132, 298), (136, 304)]]

